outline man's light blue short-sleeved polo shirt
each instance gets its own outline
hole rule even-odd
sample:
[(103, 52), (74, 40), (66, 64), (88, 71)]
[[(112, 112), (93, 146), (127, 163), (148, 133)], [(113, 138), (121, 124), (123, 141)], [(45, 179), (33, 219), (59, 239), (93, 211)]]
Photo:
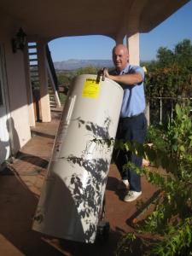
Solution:
[[(141, 73), (144, 80), (143, 68), (139, 66), (132, 66), (129, 63), (127, 63), (125, 69), (121, 72), (118, 72), (117, 70), (110, 72), (110, 74), (112, 75), (124, 75), (129, 73)], [(120, 117), (131, 117), (133, 115), (143, 113), (146, 107), (143, 82), (141, 82), (140, 84), (120, 85), (124, 90), (124, 97), (120, 111)]]

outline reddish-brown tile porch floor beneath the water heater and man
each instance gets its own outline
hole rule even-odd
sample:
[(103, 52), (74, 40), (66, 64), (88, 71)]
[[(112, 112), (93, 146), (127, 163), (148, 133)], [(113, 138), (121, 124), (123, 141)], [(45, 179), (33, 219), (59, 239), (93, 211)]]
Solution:
[[(130, 220), (137, 215), (138, 201), (122, 201), (123, 195), (116, 189), (119, 173), (114, 165), (110, 166), (105, 194), (105, 218), (110, 224), (108, 241), (84, 244), (45, 236), (32, 230), (32, 217), (38, 204), (61, 111), (52, 113), (52, 116), (50, 123), (38, 124), (33, 128), (36, 135), (20, 149), (14, 163), (0, 173), (0, 256), (115, 255), (120, 236), (133, 230)], [(140, 199), (148, 201), (157, 189), (144, 177), (142, 184), (143, 195)], [(139, 242), (133, 246), (133, 253), (125, 255), (143, 255)]]

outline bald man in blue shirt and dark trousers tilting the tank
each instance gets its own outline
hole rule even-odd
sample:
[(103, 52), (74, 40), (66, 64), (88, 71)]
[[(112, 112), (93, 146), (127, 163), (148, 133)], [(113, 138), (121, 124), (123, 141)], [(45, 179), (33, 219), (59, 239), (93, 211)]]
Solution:
[[(124, 90), (116, 138), (123, 139), (124, 142), (144, 143), (147, 132), (147, 120), (143, 113), (145, 109), (144, 71), (142, 67), (131, 66), (128, 61), (128, 49), (123, 44), (116, 45), (113, 48), (115, 70), (108, 73), (108, 69), (103, 68), (102, 76), (103, 79), (106, 77), (119, 83)], [(135, 201), (138, 196), (142, 195), (141, 177), (131, 169), (123, 169), (127, 160), (137, 167), (142, 166), (143, 160), (142, 157), (123, 150), (119, 150), (114, 159), (122, 177), (119, 189), (123, 187), (127, 189), (124, 201)], [(128, 190), (128, 187), (130, 190)]]

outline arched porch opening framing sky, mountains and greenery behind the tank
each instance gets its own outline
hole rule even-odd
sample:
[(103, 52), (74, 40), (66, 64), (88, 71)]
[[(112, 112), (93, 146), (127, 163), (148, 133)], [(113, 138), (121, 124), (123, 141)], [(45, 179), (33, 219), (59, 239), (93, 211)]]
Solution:
[(58, 79), (61, 104), (65, 102), (74, 76), (97, 73), (101, 67), (113, 66), (111, 52), (115, 41), (106, 36), (56, 38), (48, 45)]

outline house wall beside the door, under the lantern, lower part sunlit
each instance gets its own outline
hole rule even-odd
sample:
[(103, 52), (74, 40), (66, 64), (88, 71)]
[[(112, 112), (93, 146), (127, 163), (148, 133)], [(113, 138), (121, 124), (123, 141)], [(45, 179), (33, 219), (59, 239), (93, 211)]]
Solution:
[[(1, 16), (2, 19), (2, 16)], [(1, 21), (0, 19), (0, 21)], [(9, 131), (12, 138), (12, 153), (15, 154), (31, 138), (28, 102), (26, 95), (26, 77), (24, 55), (20, 49), (12, 52), (11, 38), (18, 31), (17, 22), (3, 15), (0, 22), (0, 44), (3, 44), (7, 92), (9, 100)], [(11, 130), (10, 130), (11, 128)]]

